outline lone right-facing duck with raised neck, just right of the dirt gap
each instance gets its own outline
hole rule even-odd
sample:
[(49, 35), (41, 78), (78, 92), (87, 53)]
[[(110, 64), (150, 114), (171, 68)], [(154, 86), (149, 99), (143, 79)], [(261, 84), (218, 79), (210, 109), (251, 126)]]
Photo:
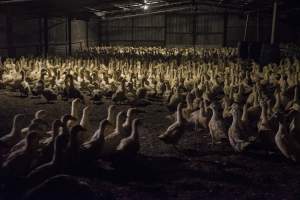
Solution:
[(182, 103), (177, 106), (176, 121), (168, 129), (158, 136), (166, 144), (176, 145), (185, 132), (185, 120), (182, 116)]

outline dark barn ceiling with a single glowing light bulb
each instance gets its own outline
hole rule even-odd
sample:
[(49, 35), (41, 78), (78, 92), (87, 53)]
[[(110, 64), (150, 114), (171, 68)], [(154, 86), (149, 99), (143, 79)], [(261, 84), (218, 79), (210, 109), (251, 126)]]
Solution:
[[(274, 0), (0, 0), (0, 11), (27, 16), (116, 19), (165, 12), (272, 11)], [(299, 0), (278, 0), (281, 13), (297, 15)], [(298, 16), (298, 15), (297, 15)]]

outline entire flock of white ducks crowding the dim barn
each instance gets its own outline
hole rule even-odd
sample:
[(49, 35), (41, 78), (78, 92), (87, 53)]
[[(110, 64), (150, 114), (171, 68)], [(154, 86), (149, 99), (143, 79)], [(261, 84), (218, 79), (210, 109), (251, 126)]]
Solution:
[[(14, 116), (0, 138), (2, 180), (22, 177), (36, 186), (99, 160), (136, 156), (143, 121), (137, 114), (151, 104), (170, 111), (173, 123), (159, 139), (176, 149), (193, 130), (209, 133), (211, 145), (229, 143), (236, 152), (259, 146), (300, 160), (296, 57), (259, 66), (238, 59), (235, 48), (94, 47), (76, 57), (7, 58), (0, 68), (2, 90), (49, 104), (72, 102), (70, 113), (53, 122), (45, 110), (27, 127), (20, 126), (26, 113)], [(92, 130), (91, 104), (104, 101), (107, 117)], [(120, 105), (130, 108), (117, 112)]]

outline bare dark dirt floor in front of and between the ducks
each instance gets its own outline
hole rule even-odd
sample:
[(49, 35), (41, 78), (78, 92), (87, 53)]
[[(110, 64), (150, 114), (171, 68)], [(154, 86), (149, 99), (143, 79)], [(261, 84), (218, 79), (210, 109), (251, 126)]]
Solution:
[[(0, 92), (1, 135), (10, 130), (16, 113), (49, 112), (49, 122), (70, 112), (70, 102), (43, 104), (41, 99), (19, 98)], [(108, 102), (93, 105), (94, 127), (106, 117)], [(124, 109), (126, 106), (120, 106)], [(157, 136), (170, 120), (161, 105), (144, 108), (140, 129), (141, 150), (135, 160), (116, 170), (101, 170), (97, 176), (83, 175), (103, 199), (300, 199), (300, 166), (279, 152), (250, 150), (235, 153), (229, 143), (211, 146), (208, 133), (187, 132), (179, 144), (181, 153)], [(28, 122), (26, 122), (28, 123)], [(84, 173), (83, 173), (84, 174)]]

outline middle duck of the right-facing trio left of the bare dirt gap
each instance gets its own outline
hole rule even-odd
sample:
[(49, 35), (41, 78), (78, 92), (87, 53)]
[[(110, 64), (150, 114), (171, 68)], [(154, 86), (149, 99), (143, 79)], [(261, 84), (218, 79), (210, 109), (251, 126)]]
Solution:
[(115, 130), (105, 137), (103, 150), (101, 152), (102, 156), (112, 155), (116, 153), (117, 146), (125, 137), (122, 134), (122, 118), (124, 117), (124, 114), (124, 111), (118, 113)]

